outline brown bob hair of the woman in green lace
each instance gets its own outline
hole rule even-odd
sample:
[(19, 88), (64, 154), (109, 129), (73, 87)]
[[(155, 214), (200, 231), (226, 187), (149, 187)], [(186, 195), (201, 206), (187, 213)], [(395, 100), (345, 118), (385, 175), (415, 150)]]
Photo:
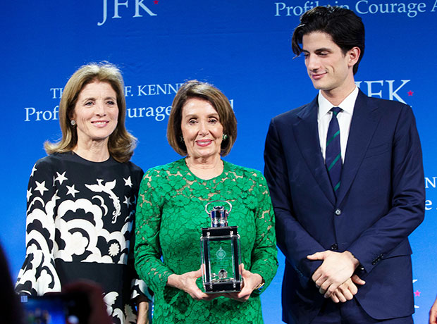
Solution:
[(173, 104), (171, 104), (170, 116), (168, 116), (167, 140), (168, 144), (180, 155), (187, 155), (187, 147), (182, 138), (182, 108), (185, 102), (191, 98), (199, 98), (206, 101), (219, 113), (220, 123), (223, 125), (223, 134), (228, 135), (221, 142), (221, 156), (229, 154), (235, 140), (237, 139), (237, 119), (230, 106), (228, 98), (219, 89), (207, 82), (190, 80), (185, 82), (176, 93)]

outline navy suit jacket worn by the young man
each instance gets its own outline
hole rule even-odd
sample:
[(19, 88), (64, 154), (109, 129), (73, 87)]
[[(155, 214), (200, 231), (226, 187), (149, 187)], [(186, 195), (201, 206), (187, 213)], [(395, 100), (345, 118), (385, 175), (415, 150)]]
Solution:
[[(265, 177), (285, 255), (283, 320), (309, 323), (324, 297), (311, 280), (318, 251), (350, 251), (366, 281), (355, 298), (369, 316), (414, 313), (408, 235), (424, 218), (424, 170), (410, 106), (371, 98), (355, 102), (336, 199), (321, 154), (317, 98), (273, 118)], [(341, 135), (340, 135), (341, 136)]]

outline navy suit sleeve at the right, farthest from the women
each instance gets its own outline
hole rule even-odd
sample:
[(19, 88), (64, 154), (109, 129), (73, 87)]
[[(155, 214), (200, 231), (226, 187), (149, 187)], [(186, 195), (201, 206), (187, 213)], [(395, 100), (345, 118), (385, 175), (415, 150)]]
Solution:
[(424, 168), (410, 106), (405, 105), (400, 111), (392, 149), (391, 208), (347, 249), (367, 272), (405, 241), (424, 219)]

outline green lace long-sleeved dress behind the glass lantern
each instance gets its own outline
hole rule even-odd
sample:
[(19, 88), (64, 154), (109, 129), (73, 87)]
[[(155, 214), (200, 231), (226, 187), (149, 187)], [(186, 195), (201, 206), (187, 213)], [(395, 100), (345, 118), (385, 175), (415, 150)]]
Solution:
[[(266, 282), (244, 303), (226, 297), (196, 301), (166, 286), (173, 273), (199, 270), (201, 228), (211, 225), (204, 208), (213, 200), (233, 205), (228, 222), (238, 225), (242, 263)], [(154, 291), (154, 324), (263, 323), (259, 294), (276, 274), (278, 261), (269, 189), (259, 171), (223, 161), (221, 175), (202, 180), (185, 159), (152, 168), (140, 185), (136, 226), (135, 268)], [(202, 287), (201, 278), (197, 285)]]

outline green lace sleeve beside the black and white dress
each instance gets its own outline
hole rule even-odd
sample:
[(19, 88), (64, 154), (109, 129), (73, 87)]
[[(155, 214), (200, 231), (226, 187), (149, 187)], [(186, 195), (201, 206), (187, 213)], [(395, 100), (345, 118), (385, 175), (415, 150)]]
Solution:
[(135, 219), (135, 269), (154, 294), (164, 294), (167, 278), (173, 273), (161, 262), (159, 230), (165, 199), (160, 184), (162, 172), (151, 169), (144, 175), (138, 192)]

